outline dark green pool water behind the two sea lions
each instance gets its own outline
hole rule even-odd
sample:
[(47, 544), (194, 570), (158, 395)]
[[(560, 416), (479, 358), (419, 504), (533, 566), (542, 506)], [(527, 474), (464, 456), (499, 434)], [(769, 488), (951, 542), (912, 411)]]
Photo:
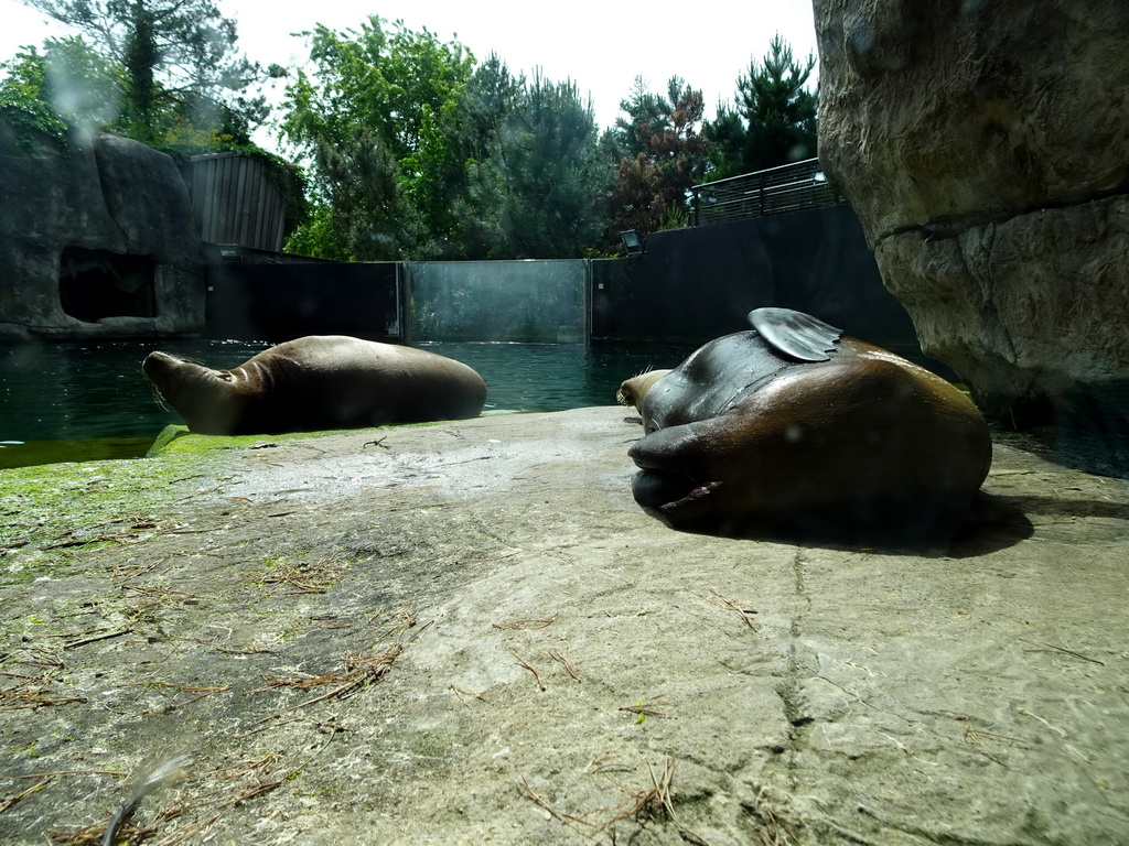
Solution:
[[(0, 467), (143, 455), (169, 423), (141, 376), (151, 350), (231, 368), (270, 346), (244, 341), (0, 345)], [(487, 409), (560, 411), (610, 405), (623, 379), (669, 368), (692, 350), (651, 345), (422, 344), (470, 364), (489, 388)]]

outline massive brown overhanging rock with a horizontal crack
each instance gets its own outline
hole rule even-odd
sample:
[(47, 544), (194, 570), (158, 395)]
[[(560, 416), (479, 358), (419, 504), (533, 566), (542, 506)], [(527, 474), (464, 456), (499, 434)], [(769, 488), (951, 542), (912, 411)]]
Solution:
[(1118, 394), (1129, 3), (814, 7), (820, 158), (926, 353), (1000, 415)]

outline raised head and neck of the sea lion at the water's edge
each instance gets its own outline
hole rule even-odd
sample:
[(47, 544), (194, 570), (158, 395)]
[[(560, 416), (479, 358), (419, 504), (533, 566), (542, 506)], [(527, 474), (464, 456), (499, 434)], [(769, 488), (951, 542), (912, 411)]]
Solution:
[(201, 434), (231, 434), (246, 417), (253, 396), (239, 390), (228, 370), (212, 370), (163, 352), (146, 356), (141, 370), (158, 399)]

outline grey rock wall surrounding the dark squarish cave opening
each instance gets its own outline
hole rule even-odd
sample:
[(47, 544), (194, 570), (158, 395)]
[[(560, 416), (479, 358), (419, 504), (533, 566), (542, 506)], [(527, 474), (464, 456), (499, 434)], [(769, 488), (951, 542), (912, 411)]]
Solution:
[[(174, 161), (130, 139), (37, 150), (0, 120), (0, 337), (77, 340), (203, 331), (200, 238)], [(152, 266), (147, 316), (84, 320), (60, 298), (61, 256), (80, 248)]]

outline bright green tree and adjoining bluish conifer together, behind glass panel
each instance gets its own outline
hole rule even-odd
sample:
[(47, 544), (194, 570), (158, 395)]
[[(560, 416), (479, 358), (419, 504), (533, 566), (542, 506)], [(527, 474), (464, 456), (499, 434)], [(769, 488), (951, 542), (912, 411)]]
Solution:
[(595, 121), (576, 86), (370, 17), (308, 33), (285, 139), (318, 202), (290, 248), (324, 257), (579, 256), (601, 229)]

